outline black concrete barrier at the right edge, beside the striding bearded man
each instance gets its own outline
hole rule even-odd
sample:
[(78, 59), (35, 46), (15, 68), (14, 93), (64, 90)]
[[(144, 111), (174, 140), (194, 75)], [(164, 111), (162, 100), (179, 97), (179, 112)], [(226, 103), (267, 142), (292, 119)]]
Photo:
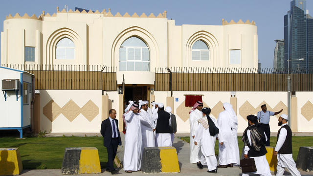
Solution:
[(303, 171), (313, 172), (313, 147), (300, 147), (296, 167)]

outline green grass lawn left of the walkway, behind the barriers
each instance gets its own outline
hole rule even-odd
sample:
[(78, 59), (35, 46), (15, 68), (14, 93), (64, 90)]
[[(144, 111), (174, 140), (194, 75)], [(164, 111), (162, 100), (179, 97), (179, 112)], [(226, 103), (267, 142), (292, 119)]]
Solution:
[(107, 149), (103, 137), (0, 137), (0, 148), (18, 147), (23, 169), (61, 169), (65, 148), (96, 147), (101, 168), (106, 167)]

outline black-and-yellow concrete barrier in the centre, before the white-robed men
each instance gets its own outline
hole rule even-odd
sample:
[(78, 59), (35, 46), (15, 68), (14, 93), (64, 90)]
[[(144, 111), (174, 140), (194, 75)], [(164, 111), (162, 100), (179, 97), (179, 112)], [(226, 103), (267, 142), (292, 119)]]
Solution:
[(178, 173), (179, 163), (174, 147), (146, 147), (143, 150), (141, 171), (144, 173)]

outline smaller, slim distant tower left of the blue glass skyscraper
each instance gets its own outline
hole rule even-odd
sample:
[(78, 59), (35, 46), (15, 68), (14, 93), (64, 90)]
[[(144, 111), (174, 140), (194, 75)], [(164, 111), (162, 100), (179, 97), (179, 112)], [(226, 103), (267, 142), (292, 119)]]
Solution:
[(274, 51), (274, 69), (284, 69), (284, 40), (274, 40), (276, 42)]

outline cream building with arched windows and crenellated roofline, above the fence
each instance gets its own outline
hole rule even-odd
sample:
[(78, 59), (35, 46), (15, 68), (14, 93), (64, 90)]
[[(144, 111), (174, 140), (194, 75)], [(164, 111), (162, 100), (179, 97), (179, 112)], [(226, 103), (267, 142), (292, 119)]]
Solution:
[[(3, 23), (1, 64), (116, 66), (118, 84), (124, 74), (126, 84), (152, 85), (156, 67), (258, 66), (257, 27), (248, 20), (175, 25), (166, 11), (112, 15), (110, 9), (57, 8), (39, 18), (9, 15)], [(132, 69), (144, 70), (148, 79), (132, 79), (143, 73)]]

